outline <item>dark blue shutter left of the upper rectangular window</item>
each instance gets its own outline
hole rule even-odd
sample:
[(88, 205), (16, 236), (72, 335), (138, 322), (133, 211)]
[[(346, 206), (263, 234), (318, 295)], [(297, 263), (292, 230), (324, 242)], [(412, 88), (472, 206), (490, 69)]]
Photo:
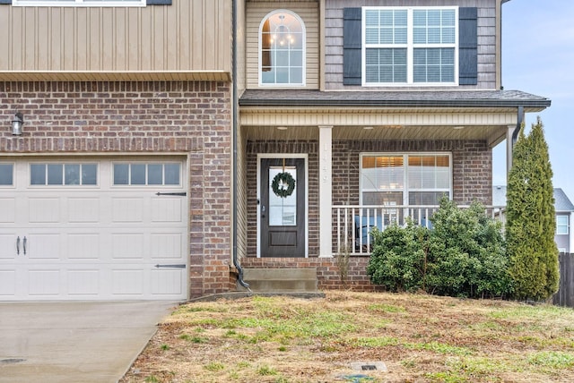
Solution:
[(361, 85), (361, 8), (343, 10), (343, 84)]

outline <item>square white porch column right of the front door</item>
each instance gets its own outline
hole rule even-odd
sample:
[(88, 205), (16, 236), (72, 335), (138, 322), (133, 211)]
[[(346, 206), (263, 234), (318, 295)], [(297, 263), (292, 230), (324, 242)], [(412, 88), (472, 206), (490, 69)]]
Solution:
[(319, 257), (333, 257), (333, 126), (319, 126)]

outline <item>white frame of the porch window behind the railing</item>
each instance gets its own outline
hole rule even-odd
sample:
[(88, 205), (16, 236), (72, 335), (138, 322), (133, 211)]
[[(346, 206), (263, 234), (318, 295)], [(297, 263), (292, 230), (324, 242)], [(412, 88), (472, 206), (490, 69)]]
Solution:
[(365, 190), (363, 190), (362, 185), (362, 158), (363, 157), (403, 157), (403, 188), (402, 189), (374, 189), (374, 190), (366, 190), (366, 191), (402, 191), (403, 192), (403, 205), (409, 206), (409, 192), (423, 192), (423, 191), (442, 191), (442, 189), (428, 189), (428, 188), (418, 188), (418, 189), (411, 189), (409, 188), (409, 175), (408, 175), (408, 157), (409, 156), (448, 156), (448, 190), (445, 189), (444, 191), (448, 191), (448, 199), (452, 200), (452, 180), (453, 180), (453, 166), (452, 166), (452, 153), (438, 151), (438, 152), (375, 152), (375, 153), (361, 153), (359, 156), (359, 204), (362, 205), (362, 194)]

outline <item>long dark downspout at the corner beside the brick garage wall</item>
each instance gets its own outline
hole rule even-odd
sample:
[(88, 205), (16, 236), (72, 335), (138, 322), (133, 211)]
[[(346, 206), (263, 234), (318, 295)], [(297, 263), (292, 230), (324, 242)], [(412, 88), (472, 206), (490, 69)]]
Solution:
[(232, 93), (232, 106), (233, 115), (231, 117), (231, 145), (233, 146), (233, 167), (232, 167), (232, 180), (233, 180), (233, 200), (231, 201), (231, 219), (233, 226), (233, 266), (237, 269), (237, 281), (239, 285), (242, 285), (248, 292), (248, 283), (243, 280), (243, 268), (239, 264), (239, 258), (237, 254), (237, 124), (238, 124), (238, 113), (239, 113), (239, 102), (238, 102), (238, 90), (237, 90), (237, 2), (238, 0), (233, 0), (231, 5), (231, 93)]

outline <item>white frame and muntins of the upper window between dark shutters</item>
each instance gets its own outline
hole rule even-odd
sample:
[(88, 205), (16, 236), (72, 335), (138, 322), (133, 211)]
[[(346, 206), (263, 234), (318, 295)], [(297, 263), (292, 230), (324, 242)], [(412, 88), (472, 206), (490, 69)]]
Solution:
[[(414, 10), (454, 10), (455, 11), (455, 43), (454, 44), (414, 44), (413, 43), (413, 11)], [(407, 11), (407, 43), (406, 45), (396, 45), (396, 44), (367, 44), (366, 42), (366, 13), (368, 11), (397, 11), (406, 10)], [(380, 86), (392, 86), (392, 87), (451, 87), (458, 85), (458, 7), (457, 6), (363, 6), (361, 14), (361, 85), (363, 87), (380, 87)], [(367, 62), (366, 55), (367, 49), (369, 48), (396, 48), (396, 47), (406, 47), (406, 82), (367, 82)], [(414, 82), (413, 74), (413, 52), (415, 48), (454, 48), (455, 55), (455, 67), (453, 78), (454, 81), (450, 82)]]

